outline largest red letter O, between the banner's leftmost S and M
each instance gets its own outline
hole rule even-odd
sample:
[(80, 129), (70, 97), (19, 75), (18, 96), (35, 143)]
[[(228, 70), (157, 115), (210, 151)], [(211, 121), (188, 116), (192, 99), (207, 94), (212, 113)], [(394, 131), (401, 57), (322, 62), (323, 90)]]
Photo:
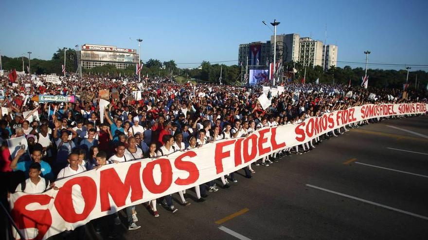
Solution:
[[(72, 187), (80, 186), (82, 193), (82, 203), (85, 204), (82, 213), (76, 213), (73, 207)], [(97, 186), (95, 181), (89, 176), (78, 176), (71, 178), (59, 188), (56, 194), (54, 205), (59, 215), (69, 223), (76, 223), (85, 220), (97, 202)]]

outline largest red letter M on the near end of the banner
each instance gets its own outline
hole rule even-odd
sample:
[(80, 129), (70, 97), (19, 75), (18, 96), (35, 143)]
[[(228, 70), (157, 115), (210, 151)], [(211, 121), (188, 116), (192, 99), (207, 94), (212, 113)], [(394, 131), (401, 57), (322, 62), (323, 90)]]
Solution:
[(111, 196), (117, 207), (125, 205), (129, 191), (131, 191), (131, 202), (143, 198), (143, 188), (140, 181), (141, 162), (133, 163), (129, 166), (125, 176), (125, 182), (122, 183), (119, 175), (114, 168), (109, 168), (100, 172), (100, 202), (101, 211), (110, 210)]

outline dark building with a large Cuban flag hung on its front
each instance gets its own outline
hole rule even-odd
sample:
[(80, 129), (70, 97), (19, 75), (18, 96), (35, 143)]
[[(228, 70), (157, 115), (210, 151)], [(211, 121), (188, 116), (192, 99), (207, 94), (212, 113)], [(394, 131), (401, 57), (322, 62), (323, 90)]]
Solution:
[(239, 45), (238, 65), (267, 66), (270, 59), (270, 41), (251, 42)]

